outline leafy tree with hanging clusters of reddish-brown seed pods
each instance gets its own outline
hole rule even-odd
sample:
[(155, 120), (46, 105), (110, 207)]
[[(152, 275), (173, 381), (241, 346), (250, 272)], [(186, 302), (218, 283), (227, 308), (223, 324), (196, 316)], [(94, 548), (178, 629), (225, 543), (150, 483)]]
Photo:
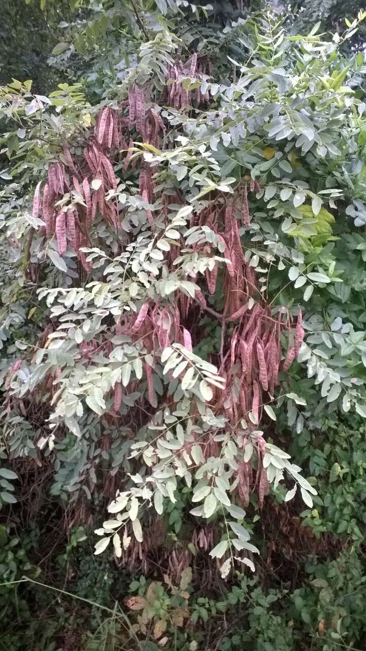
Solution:
[(269, 492), (320, 504), (283, 433), (366, 415), (365, 15), (324, 40), (219, 9), (108, 5), (54, 50), (84, 85), (3, 87), (2, 339), (10, 456), (103, 490), (96, 554), (174, 510), (227, 577)]

